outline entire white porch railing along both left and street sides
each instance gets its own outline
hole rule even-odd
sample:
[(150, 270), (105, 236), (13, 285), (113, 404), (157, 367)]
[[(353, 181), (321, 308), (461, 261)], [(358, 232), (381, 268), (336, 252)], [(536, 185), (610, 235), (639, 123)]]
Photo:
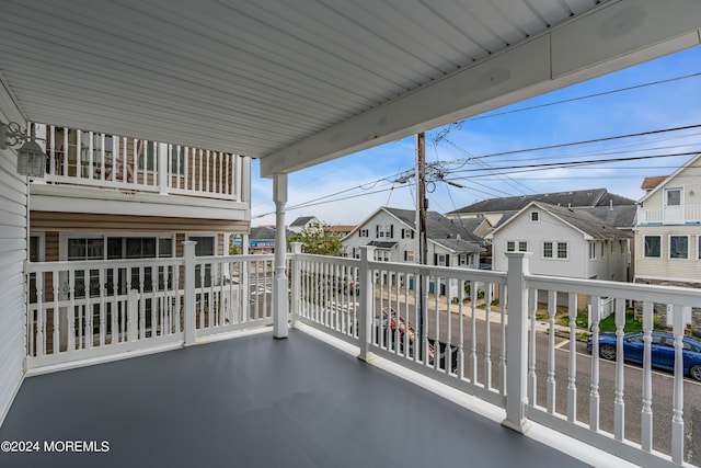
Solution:
[[(195, 344), (291, 319), (357, 346), (359, 357), (383, 357), (479, 397), (502, 409), (507, 426), (537, 422), (645, 467), (699, 464), (686, 447), (698, 437), (701, 387), (690, 380), (698, 373), (685, 317), (701, 290), (533, 275), (521, 252), (509, 254), (507, 272), (486, 272), (377, 262), (371, 249), (356, 260), (295, 246), (281, 282), (272, 255), (196, 258), (194, 242), (182, 259), (30, 263), (26, 367)], [(289, 288), (289, 317), (273, 310), (275, 284), (283, 295)], [(600, 332), (604, 297), (614, 334)], [(587, 305), (591, 353), (577, 344), (589, 334), (577, 321)], [(669, 374), (653, 370), (655, 310), (664, 306), (674, 324), (665, 338)], [(642, 330), (627, 336), (634, 309)], [(640, 367), (624, 366), (635, 357), (630, 340)]]

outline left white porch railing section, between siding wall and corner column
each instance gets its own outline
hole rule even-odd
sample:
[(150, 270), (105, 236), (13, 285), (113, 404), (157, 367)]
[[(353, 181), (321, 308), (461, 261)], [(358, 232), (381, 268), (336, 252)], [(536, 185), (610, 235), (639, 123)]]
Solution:
[(191, 248), (182, 259), (30, 263), (27, 369), (272, 323), (269, 255)]

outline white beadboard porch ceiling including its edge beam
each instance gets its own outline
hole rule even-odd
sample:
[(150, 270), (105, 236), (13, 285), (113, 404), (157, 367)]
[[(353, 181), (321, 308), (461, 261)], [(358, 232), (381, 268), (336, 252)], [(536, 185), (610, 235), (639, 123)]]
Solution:
[(290, 172), (699, 44), (697, 0), (3, 0), (27, 119)]

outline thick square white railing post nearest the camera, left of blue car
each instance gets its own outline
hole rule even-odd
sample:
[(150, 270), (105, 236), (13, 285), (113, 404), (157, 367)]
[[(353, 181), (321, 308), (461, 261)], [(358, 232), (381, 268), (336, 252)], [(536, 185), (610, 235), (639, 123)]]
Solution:
[(506, 294), (508, 301), (508, 331), (506, 335), (506, 419), (502, 424), (526, 433), (530, 423), (526, 419), (528, 403), (528, 286), (529, 252), (507, 253), (508, 272)]

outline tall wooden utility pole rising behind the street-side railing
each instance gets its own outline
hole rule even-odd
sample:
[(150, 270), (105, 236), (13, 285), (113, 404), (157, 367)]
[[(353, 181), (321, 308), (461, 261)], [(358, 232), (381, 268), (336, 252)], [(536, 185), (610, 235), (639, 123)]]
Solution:
[[(426, 265), (428, 255), (428, 243), (426, 241), (426, 135), (422, 132), (416, 134), (416, 233), (418, 240), (418, 264)], [(418, 288), (418, 333), (414, 336), (414, 345), (421, 359), (424, 358), (424, 327), (426, 315), (426, 300), (424, 292), (424, 278), (422, 274), (416, 275), (416, 287)]]

